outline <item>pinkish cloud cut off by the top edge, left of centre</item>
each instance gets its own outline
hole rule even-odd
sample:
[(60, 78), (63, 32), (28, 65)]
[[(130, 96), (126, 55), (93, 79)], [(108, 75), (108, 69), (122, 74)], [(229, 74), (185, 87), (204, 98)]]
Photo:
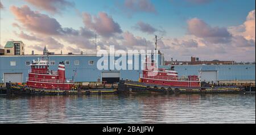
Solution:
[(60, 13), (62, 10), (67, 9), (67, 7), (75, 6), (74, 3), (68, 2), (66, 0), (24, 0), (31, 5), (38, 7), (39, 9), (49, 11), (51, 13)]

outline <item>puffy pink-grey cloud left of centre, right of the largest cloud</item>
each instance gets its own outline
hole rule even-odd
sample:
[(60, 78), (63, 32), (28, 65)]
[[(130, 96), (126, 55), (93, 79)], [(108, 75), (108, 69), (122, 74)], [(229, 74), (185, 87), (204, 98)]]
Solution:
[(86, 28), (96, 31), (103, 37), (113, 36), (115, 33), (122, 33), (122, 29), (118, 23), (114, 22), (113, 18), (105, 12), (99, 12), (98, 16), (84, 12), (82, 14)]

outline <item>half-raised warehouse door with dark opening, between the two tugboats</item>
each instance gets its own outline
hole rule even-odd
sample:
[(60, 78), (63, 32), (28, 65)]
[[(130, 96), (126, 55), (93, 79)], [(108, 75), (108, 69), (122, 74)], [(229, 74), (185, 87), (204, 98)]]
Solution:
[(120, 80), (119, 72), (102, 72), (102, 82), (113, 84)]

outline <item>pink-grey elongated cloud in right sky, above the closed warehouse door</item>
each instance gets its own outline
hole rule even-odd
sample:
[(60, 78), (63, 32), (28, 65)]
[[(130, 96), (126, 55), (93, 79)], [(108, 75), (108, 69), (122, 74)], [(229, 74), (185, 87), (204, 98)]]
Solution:
[(232, 35), (224, 27), (210, 27), (203, 20), (193, 18), (188, 20), (188, 32), (201, 37), (210, 43), (228, 43)]

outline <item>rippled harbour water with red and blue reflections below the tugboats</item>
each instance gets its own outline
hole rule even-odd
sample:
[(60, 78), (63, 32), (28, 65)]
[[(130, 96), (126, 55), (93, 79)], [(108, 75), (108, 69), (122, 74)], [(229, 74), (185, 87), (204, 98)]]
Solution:
[(255, 123), (255, 95), (0, 96), (0, 123)]

